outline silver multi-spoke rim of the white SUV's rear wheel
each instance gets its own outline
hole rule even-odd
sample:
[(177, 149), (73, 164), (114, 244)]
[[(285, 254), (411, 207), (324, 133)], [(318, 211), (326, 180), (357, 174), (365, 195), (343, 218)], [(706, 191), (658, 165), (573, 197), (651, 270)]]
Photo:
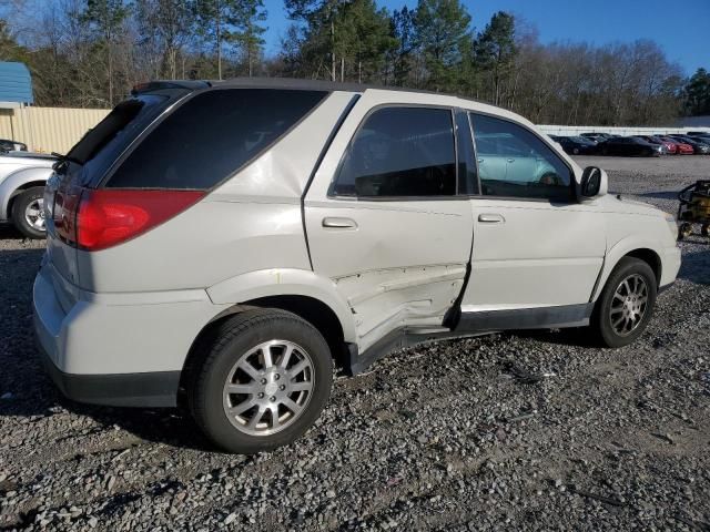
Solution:
[(240, 357), (223, 390), (224, 413), (241, 432), (280, 432), (306, 410), (315, 386), (311, 355), (288, 340), (270, 340)]

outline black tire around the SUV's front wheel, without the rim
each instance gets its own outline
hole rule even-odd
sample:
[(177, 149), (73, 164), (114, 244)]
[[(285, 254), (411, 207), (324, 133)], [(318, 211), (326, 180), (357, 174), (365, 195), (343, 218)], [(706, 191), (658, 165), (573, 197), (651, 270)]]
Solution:
[[(640, 276), (647, 286), (647, 303), (645, 311), (632, 330), (626, 335), (619, 334), (611, 324), (611, 303), (621, 283), (632, 275)], [(648, 263), (633, 257), (623, 257), (611, 272), (607, 284), (597, 300), (591, 316), (590, 328), (596, 339), (606, 347), (623, 347), (632, 344), (646, 329), (653, 314), (658, 287), (656, 274)]]

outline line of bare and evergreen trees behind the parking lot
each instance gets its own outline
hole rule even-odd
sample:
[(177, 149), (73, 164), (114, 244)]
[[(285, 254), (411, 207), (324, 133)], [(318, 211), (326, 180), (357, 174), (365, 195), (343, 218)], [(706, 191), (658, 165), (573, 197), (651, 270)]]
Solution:
[(36, 104), (110, 108), (151, 79), (321, 79), (452, 92), (536, 123), (660, 125), (710, 113), (710, 74), (684, 79), (653, 41), (540, 42), (500, 11), (479, 30), (459, 0), (284, 0), (264, 52), (263, 0), (4, 0), (0, 60), (26, 62)]

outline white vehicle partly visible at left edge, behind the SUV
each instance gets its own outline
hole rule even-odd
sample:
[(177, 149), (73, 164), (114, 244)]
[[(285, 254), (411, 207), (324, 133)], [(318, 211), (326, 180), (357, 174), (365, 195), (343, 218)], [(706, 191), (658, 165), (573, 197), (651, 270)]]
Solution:
[(55, 161), (40, 153), (0, 154), (0, 222), (28, 238), (44, 238), (44, 184)]

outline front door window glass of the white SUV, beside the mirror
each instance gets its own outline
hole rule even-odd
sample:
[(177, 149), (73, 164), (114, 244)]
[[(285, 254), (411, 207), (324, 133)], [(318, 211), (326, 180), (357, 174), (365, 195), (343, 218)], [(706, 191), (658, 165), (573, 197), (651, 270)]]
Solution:
[(534, 133), (506, 120), (471, 114), (481, 194), (568, 202), (571, 172)]

